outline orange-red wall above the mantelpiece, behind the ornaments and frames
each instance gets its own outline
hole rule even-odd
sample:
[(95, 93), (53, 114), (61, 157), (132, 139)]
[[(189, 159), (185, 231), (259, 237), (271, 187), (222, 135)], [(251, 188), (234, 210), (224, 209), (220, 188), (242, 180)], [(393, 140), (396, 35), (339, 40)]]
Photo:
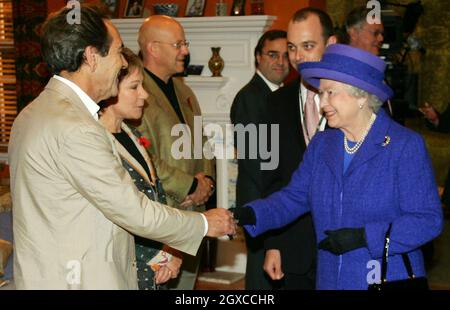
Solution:
[[(48, 11), (53, 12), (66, 4), (66, 0), (47, 0)], [(85, 0), (85, 2), (98, 2), (98, 0)], [(217, 0), (206, 0), (205, 16), (215, 15), (215, 4)], [(228, 3), (228, 9), (231, 9), (233, 0), (225, 0)], [(119, 12), (123, 14), (126, 0), (120, 0)], [(180, 5), (178, 16), (184, 16), (186, 11), (187, 0), (146, 0), (146, 7), (152, 12), (152, 5), (156, 3), (177, 3)], [(278, 19), (274, 22), (272, 28), (286, 29), (289, 19), (292, 14), (298, 9), (312, 5), (315, 7), (325, 8), (326, 0), (265, 0), (266, 15), (277, 16)], [(250, 0), (246, 1), (245, 12), (250, 14)]]

